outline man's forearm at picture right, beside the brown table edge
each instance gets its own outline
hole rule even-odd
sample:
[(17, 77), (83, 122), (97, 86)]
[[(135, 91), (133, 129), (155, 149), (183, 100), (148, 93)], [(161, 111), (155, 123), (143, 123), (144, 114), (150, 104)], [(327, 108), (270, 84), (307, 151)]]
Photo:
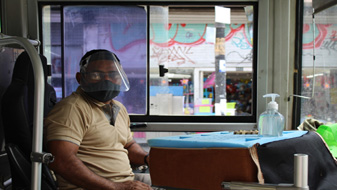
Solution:
[[(127, 149), (129, 152), (128, 156), (131, 164), (137, 166), (146, 164), (144, 162), (144, 158), (146, 155), (148, 155), (148, 153), (145, 152), (144, 149), (139, 144), (136, 143), (136, 141), (132, 140), (131, 142), (126, 144), (124, 148)], [(146, 157), (146, 160), (147, 163), (150, 165), (149, 156)]]

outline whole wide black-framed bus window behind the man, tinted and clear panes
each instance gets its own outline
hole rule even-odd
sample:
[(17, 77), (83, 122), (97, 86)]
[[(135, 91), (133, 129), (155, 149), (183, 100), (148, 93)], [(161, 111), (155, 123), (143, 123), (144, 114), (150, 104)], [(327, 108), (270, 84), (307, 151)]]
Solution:
[(132, 122), (256, 122), (255, 3), (41, 7), (58, 99), (77, 88), (81, 56), (108, 49), (130, 80), (117, 100)]

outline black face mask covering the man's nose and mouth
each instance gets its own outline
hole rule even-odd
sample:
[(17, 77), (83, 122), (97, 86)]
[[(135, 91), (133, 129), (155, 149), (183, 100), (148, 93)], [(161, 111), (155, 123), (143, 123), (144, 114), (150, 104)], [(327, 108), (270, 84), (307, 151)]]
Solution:
[(98, 83), (87, 83), (87, 85), (82, 86), (82, 89), (90, 97), (100, 102), (107, 102), (119, 95), (120, 85), (104, 80)]

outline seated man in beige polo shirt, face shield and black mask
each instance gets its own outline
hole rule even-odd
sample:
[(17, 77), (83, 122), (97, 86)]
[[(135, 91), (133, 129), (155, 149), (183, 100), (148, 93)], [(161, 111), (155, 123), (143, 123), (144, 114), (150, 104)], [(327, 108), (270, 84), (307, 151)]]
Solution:
[(113, 100), (129, 89), (117, 56), (87, 52), (76, 73), (80, 86), (55, 105), (44, 121), (49, 166), (60, 189), (151, 189), (134, 180), (130, 164), (149, 158), (132, 138), (126, 108)]

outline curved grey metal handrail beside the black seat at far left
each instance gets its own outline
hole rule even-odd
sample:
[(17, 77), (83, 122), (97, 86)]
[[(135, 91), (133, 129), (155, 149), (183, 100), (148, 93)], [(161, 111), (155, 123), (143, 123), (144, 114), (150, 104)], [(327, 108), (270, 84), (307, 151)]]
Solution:
[[(45, 91), (44, 71), (41, 59), (34, 45), (39, 45), (38, 41), (29, 40), (23, 37), (0, 35), (0, 45), (21, 45), (28, 53), (34, 72), (34, 116), (33, 116), (33, 143), (32, 153), (42, 154), (43, 135), (43, 100)], [(32, 160), (31, 189), (41, 189), (41, 168), (42, 163)]]

